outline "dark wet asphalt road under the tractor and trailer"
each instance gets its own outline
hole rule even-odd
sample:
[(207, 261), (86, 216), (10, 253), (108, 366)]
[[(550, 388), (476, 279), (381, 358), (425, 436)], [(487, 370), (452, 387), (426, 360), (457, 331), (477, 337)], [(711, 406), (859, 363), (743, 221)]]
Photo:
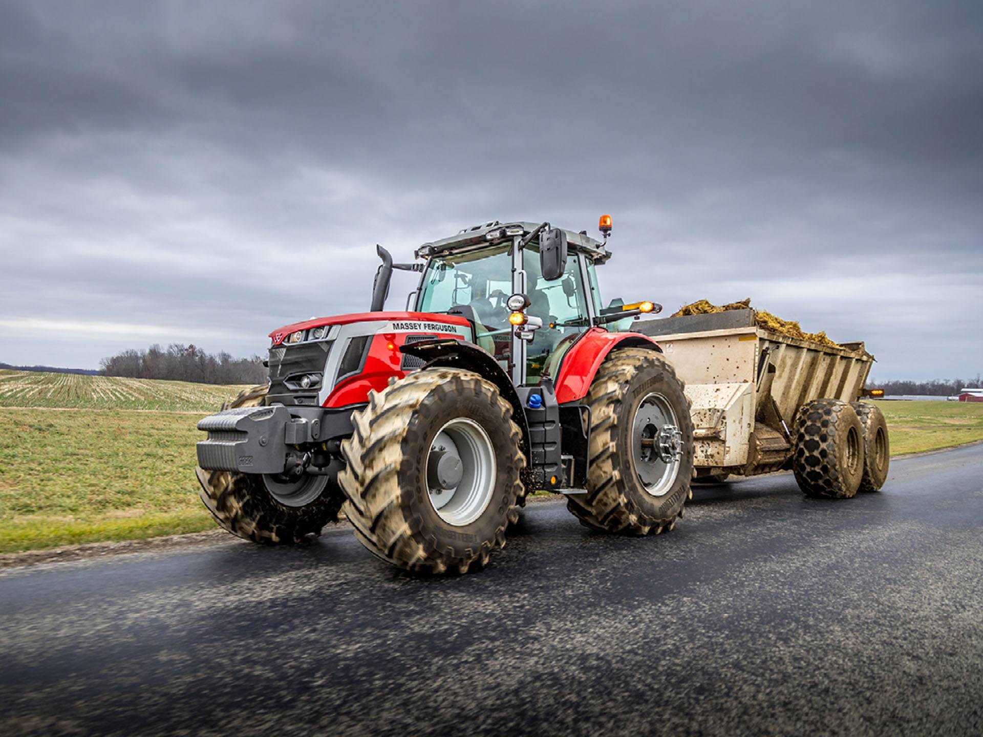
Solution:
[(687, 510), (630, 539), (530, 504), (436, 580), (346, 528), (10, 569), (0, 733), (983, 733), (983, 446)]

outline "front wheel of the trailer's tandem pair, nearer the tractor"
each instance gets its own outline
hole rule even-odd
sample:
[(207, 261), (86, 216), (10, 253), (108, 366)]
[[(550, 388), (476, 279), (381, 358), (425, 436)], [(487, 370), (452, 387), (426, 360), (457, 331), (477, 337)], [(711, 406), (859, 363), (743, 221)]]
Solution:
[(795, 418), (792, 472), (807, 496), (845, 499), (863, 478), (863, 425), (838, 399), (816, 399)]

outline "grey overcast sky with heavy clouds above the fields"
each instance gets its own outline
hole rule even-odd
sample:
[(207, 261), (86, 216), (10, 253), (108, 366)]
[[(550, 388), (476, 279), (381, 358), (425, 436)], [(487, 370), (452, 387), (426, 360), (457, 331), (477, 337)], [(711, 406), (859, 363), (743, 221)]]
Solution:
[(376, 243), (603, 212), (606, 299), (975, 375), (983, 5), (0, 0), (0, 361), (260, 353)]

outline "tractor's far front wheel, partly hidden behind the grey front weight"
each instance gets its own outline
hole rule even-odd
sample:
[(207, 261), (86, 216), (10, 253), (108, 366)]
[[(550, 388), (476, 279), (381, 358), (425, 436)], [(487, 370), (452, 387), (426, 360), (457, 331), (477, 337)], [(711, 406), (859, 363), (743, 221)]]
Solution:
[[(266, 401), (266, 386), (239, 393), (222, 409), (259, 407)], [(317, 536), (328, 522), (338, 519), (344, 495), (326, 476), (298, 480), (257, 474), (195, 469), (202, 502), (218, 525), (233, 535), (264, 544), (300, 542)]]

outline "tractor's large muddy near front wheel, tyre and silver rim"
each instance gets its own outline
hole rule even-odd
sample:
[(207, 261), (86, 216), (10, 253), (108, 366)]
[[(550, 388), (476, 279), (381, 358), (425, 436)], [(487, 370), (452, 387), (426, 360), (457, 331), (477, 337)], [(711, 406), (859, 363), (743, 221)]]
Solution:
[(525, 488), (512, 406), (481, 375), (423, 369), (370, 392), (341, 444), (338, 480), (355, 537), (413, 571), (483, 568)]

